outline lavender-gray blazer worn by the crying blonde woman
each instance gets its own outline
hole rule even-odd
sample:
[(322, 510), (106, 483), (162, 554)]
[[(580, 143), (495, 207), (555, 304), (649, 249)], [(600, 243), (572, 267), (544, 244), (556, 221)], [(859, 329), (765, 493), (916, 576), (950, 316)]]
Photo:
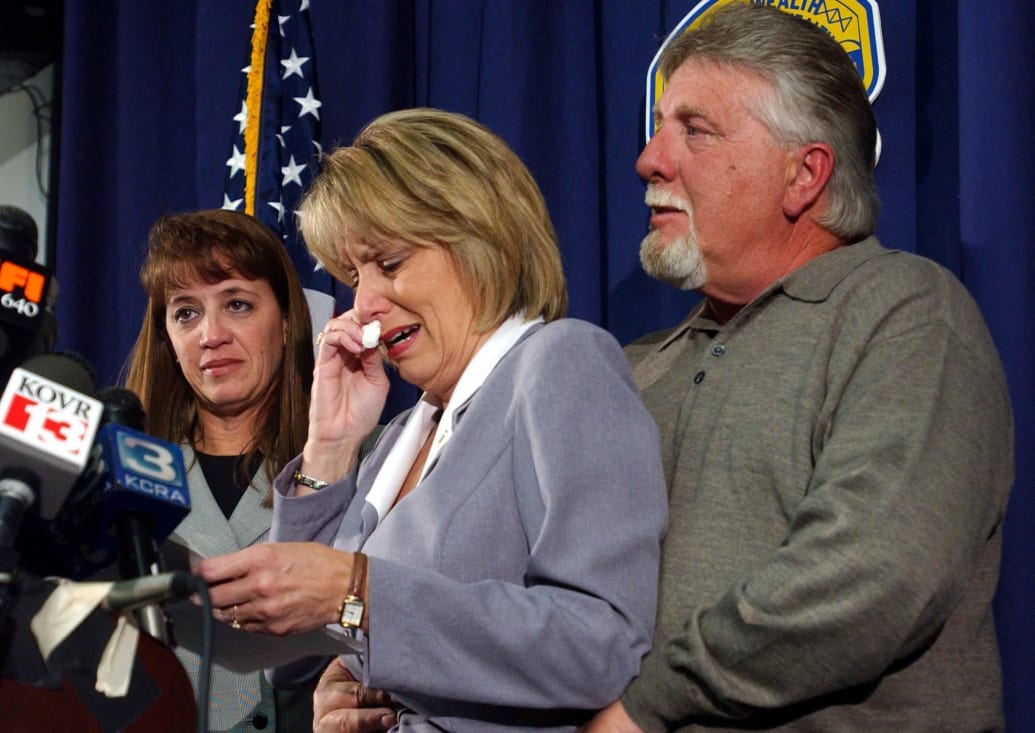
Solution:
[(573, 730), (654, 625), (667, 496), (621, 348), (581, 321), (530, 329), (378, 524), (364, 496), (409, 414), (318, 493), (291, 496), (289, 463), (271, 537), (371, 556), (369, 636), (346, 662), (407, 705), (397, 730)]

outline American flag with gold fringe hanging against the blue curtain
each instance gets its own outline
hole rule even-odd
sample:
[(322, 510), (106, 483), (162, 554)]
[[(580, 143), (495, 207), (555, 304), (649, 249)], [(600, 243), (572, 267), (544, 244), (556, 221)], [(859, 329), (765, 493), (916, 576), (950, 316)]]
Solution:
[(249, 213), (282, 236), (317, 331), (333, 315), (336, 292), (334, 280), (306, 252), (295, 222), (320, 154), (321, 101), (308, 6), (308, 0), (256, 3), (223, 208)]

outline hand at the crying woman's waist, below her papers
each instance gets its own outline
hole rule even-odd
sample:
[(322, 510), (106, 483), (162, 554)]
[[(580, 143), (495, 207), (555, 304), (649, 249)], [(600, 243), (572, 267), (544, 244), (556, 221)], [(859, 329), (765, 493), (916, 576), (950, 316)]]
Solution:
[(395, 725), (395, 712), (388, 694), (369, 690), (356, 681), (341, 658), (334, 659), (320, 676), (313, 694), (314, 733), (369, 733)]

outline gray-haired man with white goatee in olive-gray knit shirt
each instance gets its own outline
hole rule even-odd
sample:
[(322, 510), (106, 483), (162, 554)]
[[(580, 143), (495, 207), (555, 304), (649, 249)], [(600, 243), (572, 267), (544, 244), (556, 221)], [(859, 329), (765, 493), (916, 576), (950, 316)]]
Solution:
[(670, 525), (654, 647), (588, 730), (1002, 729), (1005, 378), (958, 281), (873, 236), (855, 66), (737, 4), (661, 71), (641, 259), (704, 299), (627, 349)]

